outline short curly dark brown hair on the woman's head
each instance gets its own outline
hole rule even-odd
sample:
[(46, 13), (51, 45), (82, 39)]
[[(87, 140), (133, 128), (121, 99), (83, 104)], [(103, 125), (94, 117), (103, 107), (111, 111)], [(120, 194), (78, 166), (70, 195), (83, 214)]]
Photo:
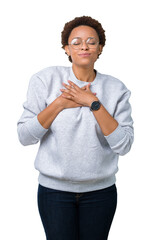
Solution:
[[(66, 45), (68, 45), (68, 39), (69, 39), (71, 31), (74, 28), (76, 28), (78, 26), (83, 26), (83, 25), (89, 26), (89, 27), (92, 27), (93, 29), (95, 29), (95, 31), (97, 32), (98, 37), (99, 37), (99, 44), (101, 44), (103, 47), (105, 46), (105, 41), (106, 41), (105, 30), (103, 29), (101, 23), (99, 23), (97, 20), (95, 20), (89, 16), (82, 16), (82, 17), (76, 17), (64, 25), (64, 29), (61, 32), (61, 43), (62, 43), (63, 49), (65, 48)], [(72, 62), (72, 59), (70, 56), (69, 56), (69, 61)]]

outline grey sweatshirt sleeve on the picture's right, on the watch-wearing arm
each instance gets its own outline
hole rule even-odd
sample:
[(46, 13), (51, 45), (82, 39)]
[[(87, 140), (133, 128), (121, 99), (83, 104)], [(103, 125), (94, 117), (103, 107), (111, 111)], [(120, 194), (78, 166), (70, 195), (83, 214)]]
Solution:
[(111, 134), (105, 136), (111, 149), (119, 155), (128, 153), (134, 141), (132, 109), (129, 103), (130, 95), (131, 92), (126, 90), (118, 100), (113, 116), (118, 122), (118, 127)]

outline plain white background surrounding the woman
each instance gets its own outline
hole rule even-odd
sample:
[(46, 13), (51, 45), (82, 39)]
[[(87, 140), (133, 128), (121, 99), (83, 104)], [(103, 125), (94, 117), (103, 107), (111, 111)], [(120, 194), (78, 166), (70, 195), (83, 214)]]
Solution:
[[(0, 239), (45, 239), (37, 208), (38, 145), (23, 147), (17, 121), (30, 77), (53, 65), (70, 66), (61, 31), (77, 16), (91, 16), (106, 30), (95, 68), (131, 90), (135, 142), (120, 157), (118, 207), (109, 240), (151, 239), (150, 7), (143, 0), (5, 0), (0, 3)], [(149, 102), (150, 101), (150, 102)]]

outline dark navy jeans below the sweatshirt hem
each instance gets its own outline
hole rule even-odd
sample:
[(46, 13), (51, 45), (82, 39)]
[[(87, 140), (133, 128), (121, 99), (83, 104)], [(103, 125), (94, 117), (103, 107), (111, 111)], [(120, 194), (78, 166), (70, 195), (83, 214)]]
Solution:
[(107, 240), (116, 204), (116, 185), (84, 193), (38, 187), (47, 240)]

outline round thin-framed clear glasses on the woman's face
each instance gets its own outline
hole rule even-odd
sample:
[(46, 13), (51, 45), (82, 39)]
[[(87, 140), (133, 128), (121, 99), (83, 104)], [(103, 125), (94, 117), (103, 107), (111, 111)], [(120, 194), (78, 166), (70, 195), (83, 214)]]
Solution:
[(80, 37), (77, 37), (77, 38), (72, 39), (72, 41), (69, 45), (71, 45), (72, 48), (78, 50), (82, 47), (83, 42), (85, 42), (86, 45), (91, 49), (97, 48), (97, 46), (99, 44), (99, 41), (94, 37), (90, 37), (87, 40), (82, 40)]

